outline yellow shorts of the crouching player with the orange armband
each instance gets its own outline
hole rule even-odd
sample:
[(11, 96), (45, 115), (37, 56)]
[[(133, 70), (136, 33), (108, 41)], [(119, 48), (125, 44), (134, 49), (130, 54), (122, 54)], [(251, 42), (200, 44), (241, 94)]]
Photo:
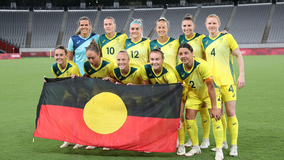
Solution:
[[(208, 108), (212, 108), (211, 100), (210, 100), (209, 96), (201, 99), (201, 98), (198, 98), (198, 97), (195, 97), (193, 95), (188, 94), (187, 97), (186, 97), (185, 109), (200, 110), (203, 102), (206, 103)], [(220, 94), (217, 94), (217, 96), (216, 96), (216, 103), (217, 103), (217, 108), (221, 108), (221, 95)]]

